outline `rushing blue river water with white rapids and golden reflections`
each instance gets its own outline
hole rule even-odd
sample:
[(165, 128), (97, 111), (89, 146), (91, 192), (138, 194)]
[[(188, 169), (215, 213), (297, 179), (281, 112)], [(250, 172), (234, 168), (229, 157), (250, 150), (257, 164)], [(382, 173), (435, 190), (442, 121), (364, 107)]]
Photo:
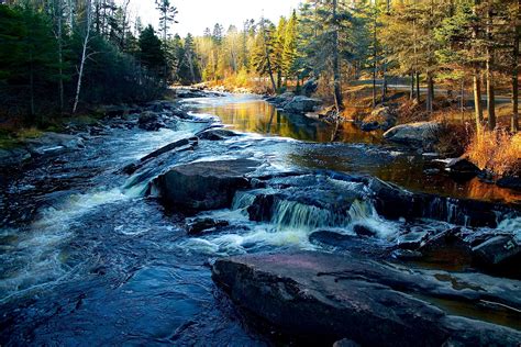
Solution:
[[(335, 134), (333, 125), (280, 113), (250, 96), (181, 104), (197, 114), (196, 121), (177, 121), (158, 132), (114, 123), (106, 134), (89, 136), (80, 152), (2, 175), (0, 345), (243, 346), (269, 342), (246, 326), (217, 290), (209, 264), (225, 255), (317, 249), (308, 239), (313, 225), (302, 219), (250, 222), (244, 208), (251, 197), (243, 193), (235, 197), (232, 209), (201, 214), (228, 220), (233, 230), (187, 237), (185, 216), (144, 194), (158, 172), (151, 171), (143, 180), (120, 171), (212, 122), (247, 135), (224, 147), (206, 144), (180, 161), (240, 154), (266, 159), (281, 171), (368, 174), (410, 190), (511, 205), (520, 201), (519, 194), (477, 179), (456, 182), (443, 174), (428, 175), (425, 170), (435, 166), (431, 158), (385, 144), (348, 123)], [(284, 213), (304, 213), (282, 208)], [(402, 226), (374, 215), (368, 206), (359, 206), (352, 216), (378, 230), (383, 243)], [(446, 226), (429, 223), (434, 228)]]

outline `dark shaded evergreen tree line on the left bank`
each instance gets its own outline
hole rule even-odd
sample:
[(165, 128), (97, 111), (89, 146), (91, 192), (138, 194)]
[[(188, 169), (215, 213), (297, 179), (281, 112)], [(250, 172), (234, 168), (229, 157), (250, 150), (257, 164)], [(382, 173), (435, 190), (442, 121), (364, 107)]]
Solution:
[(158, 35), (166, 37), (177, 10), (156, 4), (157, 33), (131, 18), (130, 0), (0, 1), (0, 117), (42, 124), (162, 96), (175, 58)]

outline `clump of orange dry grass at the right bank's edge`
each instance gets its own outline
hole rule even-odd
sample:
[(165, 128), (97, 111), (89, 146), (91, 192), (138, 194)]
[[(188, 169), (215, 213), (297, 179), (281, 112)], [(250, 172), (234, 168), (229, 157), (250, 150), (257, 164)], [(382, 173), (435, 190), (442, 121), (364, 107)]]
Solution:
[(468, 158), (480, 169), (498, 176), (521, 175), (521, 134), (498, 130), (481, 132), (467, 147)]

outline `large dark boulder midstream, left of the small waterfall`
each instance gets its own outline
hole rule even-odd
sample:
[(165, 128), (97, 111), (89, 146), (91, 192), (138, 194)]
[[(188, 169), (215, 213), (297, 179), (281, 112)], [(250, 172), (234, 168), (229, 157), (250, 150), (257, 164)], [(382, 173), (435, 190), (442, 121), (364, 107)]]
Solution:
[(252, 159), (196, 161), (169, 169), (155, 179), (164, 201), (174, 209), (208, 211), (229, 208), (235, 192), (250, 187), (246, 174), (260, 165)]

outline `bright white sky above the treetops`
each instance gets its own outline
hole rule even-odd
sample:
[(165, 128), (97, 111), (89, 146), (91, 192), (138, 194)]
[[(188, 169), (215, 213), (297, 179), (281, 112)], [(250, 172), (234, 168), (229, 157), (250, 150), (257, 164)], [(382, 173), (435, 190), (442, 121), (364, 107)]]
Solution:
[[(170, 29), (173, 34), (185, 36), (191, 33), (202, 35), (206, 27), (220, 23), (225, 30), (231, 24), (237, 27), (246, 19), (258, 20), (264, 11), (265, 18), (277, 22), (280, 15), (288, 16), (297, 9), (300, 0), (170, 0), (177, 7), (178, 24)], [(132, 16), (141, 16), (143, 24), (157, 29), (158, 12), (154, 0), (131, 0)]]

